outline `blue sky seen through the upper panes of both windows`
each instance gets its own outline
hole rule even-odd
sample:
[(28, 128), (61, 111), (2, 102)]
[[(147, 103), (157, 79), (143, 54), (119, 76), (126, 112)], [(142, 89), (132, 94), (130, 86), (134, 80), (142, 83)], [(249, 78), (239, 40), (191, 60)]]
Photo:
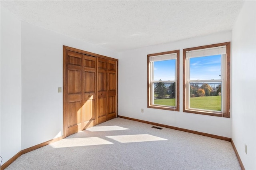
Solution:
[[(182, 69), (182, 68), (181, 68)], [(190, 58), (190, 80), (219, 80), (221, 55)], [(154, 81), (175, 80), (175, 60), (154, 62)]]

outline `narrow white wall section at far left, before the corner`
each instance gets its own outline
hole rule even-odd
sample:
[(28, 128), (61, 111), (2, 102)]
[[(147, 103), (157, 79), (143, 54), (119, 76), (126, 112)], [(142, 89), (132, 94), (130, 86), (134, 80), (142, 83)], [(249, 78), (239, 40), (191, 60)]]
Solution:
[(1, 151), (3, 162), (21, 148), (20, 21), (1, 6)]

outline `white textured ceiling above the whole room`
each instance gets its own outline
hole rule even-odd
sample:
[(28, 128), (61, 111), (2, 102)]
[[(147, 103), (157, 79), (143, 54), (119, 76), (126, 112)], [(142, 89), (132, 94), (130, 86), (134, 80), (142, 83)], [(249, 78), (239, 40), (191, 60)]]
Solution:
[(232, 30), (243, 1), (1, 1), (22, 21), (112, 51)]

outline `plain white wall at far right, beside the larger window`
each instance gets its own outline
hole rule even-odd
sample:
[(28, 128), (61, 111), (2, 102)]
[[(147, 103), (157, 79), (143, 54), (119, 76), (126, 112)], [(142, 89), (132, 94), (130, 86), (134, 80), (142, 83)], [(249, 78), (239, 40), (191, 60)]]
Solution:
[[(232, 140), (246, 169), (256, 169), (256, 2), (246, 1), (232, 30)], [(244, 151), (247, 144), (247, 154)]]

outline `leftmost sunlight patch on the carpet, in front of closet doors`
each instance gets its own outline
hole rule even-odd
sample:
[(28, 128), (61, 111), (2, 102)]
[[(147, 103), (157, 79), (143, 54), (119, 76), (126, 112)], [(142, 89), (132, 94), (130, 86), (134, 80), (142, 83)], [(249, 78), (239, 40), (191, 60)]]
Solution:
[(62, 139), (58, 142), (54, 142), (49, 144), (53, 148), (67, 148), (67, 147), (77, 147), (77, 146), (92, 146), (92, 145), (100, 145), (100, 144), (113, 144), (108, 140), (104, 140), (98, 137), (90, 137), (90, 138), (69, 138)]

